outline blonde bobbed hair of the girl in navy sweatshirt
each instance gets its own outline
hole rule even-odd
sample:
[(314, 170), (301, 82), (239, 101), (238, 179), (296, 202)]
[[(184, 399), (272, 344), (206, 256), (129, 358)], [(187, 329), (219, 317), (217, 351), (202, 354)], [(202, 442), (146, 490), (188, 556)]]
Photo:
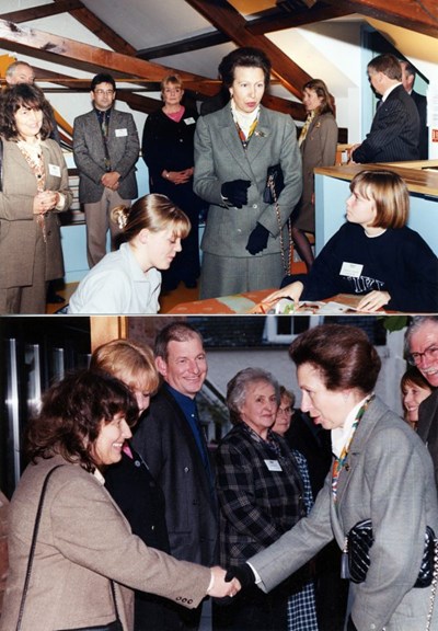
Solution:
[(403, 228), (410, 214), (410, 192), (404, 180), (393, 171), (360, 171), (349, 185), (351, 193), (374, 202), (376, 228)]

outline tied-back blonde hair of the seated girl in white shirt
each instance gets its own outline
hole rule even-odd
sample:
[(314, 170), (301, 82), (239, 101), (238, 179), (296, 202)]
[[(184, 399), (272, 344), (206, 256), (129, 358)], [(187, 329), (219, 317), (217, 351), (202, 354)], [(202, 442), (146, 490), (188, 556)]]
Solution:
[(127, 241), (143, 229), (161, 232), (169, 227), (172, 227), (175, 237), (185, 239), (192, 228), (187, 215), (169, 197), (158, 193), (140, 197), (131, 207), (116, 206), (111, 211), (111, 220), (118, 225)]

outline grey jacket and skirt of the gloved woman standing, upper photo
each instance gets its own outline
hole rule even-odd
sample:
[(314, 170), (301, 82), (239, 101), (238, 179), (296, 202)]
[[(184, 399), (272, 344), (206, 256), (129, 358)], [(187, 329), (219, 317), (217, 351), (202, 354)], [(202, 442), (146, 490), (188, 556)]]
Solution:
[[(209, 203), (201, 240), (201, 298), (278, 287), (284, 276), (279, 223), (273, 204), (263, 200), (268, 167), (280, 164), (285, 187), (278, 198), (285, 246), (286, 223), (301, 195), (301, 157), (292, 118), (261, 106), (257, 127), (246, 150), (239, 138), (230, 104), (201, 116), (195, 133), (194, 190)], [(221, 186), (251, 181), (247, 204), (227, 207)], [(245, 250), (257, 222), (268, 231), (267, 248)]]

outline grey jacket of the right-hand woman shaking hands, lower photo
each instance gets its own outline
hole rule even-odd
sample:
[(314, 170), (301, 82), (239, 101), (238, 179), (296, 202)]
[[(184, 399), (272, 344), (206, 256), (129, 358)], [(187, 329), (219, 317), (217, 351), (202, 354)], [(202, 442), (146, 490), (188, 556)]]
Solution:
[[(371, 518), (374, 543), (364, 583), (350, 584), (353, 620), (359, 631), (426, 628), (430, 588), (413, 588), (426, 525), (438, 534), (437, 492), (430, 457), (420, 438), (379, 399), (356, 431), (337, 504), (331, 474), (309, 517), (249, 560), (268, 592), (333, 538), (339, 548), (361, 519)], [(435, 608), (431, 629), (438, 628)]]

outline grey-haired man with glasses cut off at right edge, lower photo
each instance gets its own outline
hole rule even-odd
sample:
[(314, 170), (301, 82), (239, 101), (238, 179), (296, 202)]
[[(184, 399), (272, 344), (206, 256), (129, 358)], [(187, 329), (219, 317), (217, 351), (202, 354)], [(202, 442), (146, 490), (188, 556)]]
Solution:
[[(438, 387), (438, 316), (413, 318), (405, 337), (406, 358), (433, 388)], [(435, 464), (438, 486), (438, 389), (419, 405), (417, 433), (426, 443)]]

